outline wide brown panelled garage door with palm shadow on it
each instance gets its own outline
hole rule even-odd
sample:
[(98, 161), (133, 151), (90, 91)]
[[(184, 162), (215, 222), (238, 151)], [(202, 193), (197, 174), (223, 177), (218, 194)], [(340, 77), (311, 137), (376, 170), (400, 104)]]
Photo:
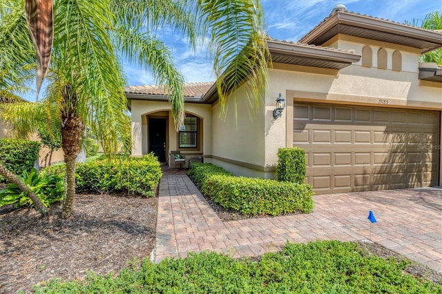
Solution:
[(439, 115), (428, 110), (294, 104), (294, 146), (316, 193), (435, 186)]

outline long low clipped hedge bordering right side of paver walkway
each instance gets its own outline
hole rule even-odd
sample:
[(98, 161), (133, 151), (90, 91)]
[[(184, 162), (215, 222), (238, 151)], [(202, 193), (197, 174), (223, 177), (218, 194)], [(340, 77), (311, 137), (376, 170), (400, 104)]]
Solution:
[(204, 195), (244, 215), (311, 213), (310, 185), (272, 179), (235, 177), (213, 164), (193, 164), (189, 176)]

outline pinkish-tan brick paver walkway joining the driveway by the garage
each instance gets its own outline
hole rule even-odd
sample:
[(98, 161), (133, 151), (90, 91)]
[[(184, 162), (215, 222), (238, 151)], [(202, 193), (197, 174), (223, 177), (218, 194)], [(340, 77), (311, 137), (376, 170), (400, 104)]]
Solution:
[[(243, 257), (289, 242), (373, 242), (442, 272), (442, 189), (417, 188), (314, 196), (314, 212), (222, 222), (186, 175), (160, 181), (153, 258), (217, 251)], [(373, 210), (377, 223), (367, 219)]]

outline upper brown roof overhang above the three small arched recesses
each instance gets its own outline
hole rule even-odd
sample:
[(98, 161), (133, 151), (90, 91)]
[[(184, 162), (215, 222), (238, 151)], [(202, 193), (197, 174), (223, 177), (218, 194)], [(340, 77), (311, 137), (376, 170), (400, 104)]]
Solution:
[(344, 11), (324, 19), (300, 42), (320, 46), (338, 34), (419, 48), (421, 54), (442, 47), (441, 32)]

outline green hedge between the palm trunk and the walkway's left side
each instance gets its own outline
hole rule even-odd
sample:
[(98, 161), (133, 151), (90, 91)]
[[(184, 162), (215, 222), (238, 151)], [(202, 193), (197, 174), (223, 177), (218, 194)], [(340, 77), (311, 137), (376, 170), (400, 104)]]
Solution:
[[(49, 166), (42, 173), (64, 174), (65, 166)], [(100, 157), (86, 164), (77, 164), (75, 170), (77, 193), (119, 193), (152, 196), (160, 182), (160, 162), (152, 154), (143, 157)]]

